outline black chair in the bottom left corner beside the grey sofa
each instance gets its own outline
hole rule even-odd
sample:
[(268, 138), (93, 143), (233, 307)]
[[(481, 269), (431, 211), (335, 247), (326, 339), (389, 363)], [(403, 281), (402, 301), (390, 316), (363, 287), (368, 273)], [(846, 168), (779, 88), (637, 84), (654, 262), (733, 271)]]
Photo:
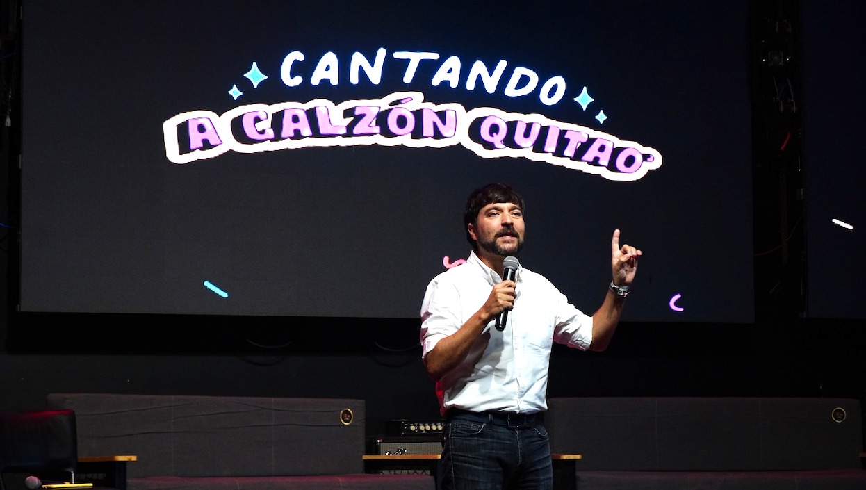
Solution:
[(0, 410), (0, 490), (74, 484), (77, 464), (74, 410)]

